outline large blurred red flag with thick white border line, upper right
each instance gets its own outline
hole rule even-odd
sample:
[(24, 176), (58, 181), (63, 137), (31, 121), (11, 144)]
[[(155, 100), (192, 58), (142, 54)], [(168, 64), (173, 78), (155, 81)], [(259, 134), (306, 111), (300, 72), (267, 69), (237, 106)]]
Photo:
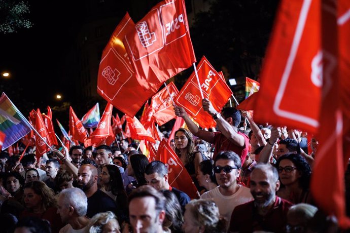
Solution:
[[(302, 9), (306, 10), (305, 24)], [(320, 25), (320, 0), (311, 1), (310, 6), (305, 1), (280, 5), (261, 71), (256, 122), (316, 132), (322, 65), (318, 60), (320, 27), (316, 25)]]

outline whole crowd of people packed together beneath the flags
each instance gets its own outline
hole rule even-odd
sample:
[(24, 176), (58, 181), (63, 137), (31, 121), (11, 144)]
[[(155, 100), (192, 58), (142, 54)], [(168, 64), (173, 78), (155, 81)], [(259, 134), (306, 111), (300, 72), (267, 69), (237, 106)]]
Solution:
[(183, 108), (174, 107), (187, 129), (168, 139), (198, 199), (171, 186), (167, 164), (149, 161), (130, 138), (117, 136), (112, 145), (96, 148), (57, 146), (41, 157), (33, 147), (22, 158), (5, 150), (1, 231), (339, 231), (335, 217), (318, 209), (309, 190), (316, 138), (309, 150), (306, 132), (258, 125), (234, 107), (219, 113), (207, 99), (202, 105), (217, 131), (199, 128)]

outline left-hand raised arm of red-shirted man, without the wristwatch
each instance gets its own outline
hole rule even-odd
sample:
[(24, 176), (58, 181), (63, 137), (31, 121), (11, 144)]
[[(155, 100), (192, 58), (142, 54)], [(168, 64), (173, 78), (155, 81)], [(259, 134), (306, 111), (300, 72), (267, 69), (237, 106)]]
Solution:
[(194, 122), (190, 119), (189, 115), (183, 107), (176, 106), (174, 107), (174, 111), (177, 117), (181, 117), (184, 119), (188, 129), (194, 136), (199, 137), (209, 143), (214, 142), (214, 133), (199, 129), (198, 126), (194, 124)]

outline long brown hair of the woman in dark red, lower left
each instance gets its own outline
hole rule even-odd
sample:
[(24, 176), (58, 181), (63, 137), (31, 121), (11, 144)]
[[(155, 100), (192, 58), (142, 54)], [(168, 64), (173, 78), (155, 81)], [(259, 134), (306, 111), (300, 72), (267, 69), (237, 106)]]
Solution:
[(42, 204), (45, 210), (50, 207), (55, 207), (57, 204), (55, 193), (43, 181), (30, 181), (24, 185), (24, 189), (31, 188), (33, 191), (42, 197)]

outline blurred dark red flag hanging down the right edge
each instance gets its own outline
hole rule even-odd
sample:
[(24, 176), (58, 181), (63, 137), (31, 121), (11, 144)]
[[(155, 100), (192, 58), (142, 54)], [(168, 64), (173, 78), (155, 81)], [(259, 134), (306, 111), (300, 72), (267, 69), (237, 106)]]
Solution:
[[(346, 216), (344, 187), (344, 166), (347, 164), (344, 164), (344, 159), (347, 161), (349, 151), (344, 151), (348, 142), (343, 143), (350, 120), (350, 91), (349, 86), (344, 86), (349, 84), (350, 68), (346, 66), (350, 62), (347, 54), (350, 45), (345, 39), (350, 35), (350, 3), (345, 0), (338, 1), (337, 16), (327, 10), (328, 7), (333, 9), (335, 4), (331, 0), (322, 1), (322, 7), (318, 8), (322, 17), (321, 24), (314, 25), (321, 25), (322, 49), (327, 53), (322, 57), (321, 127), (316, 135), (320, 145), (312, 169), (311, 192), (320, 209), (329, 215), (334, 214), (339, 226), (345, 229), (350, 228), (350, 218)], [(336, 58), (339, 60), (338, 66), (332, 63), (332, 59)]]

